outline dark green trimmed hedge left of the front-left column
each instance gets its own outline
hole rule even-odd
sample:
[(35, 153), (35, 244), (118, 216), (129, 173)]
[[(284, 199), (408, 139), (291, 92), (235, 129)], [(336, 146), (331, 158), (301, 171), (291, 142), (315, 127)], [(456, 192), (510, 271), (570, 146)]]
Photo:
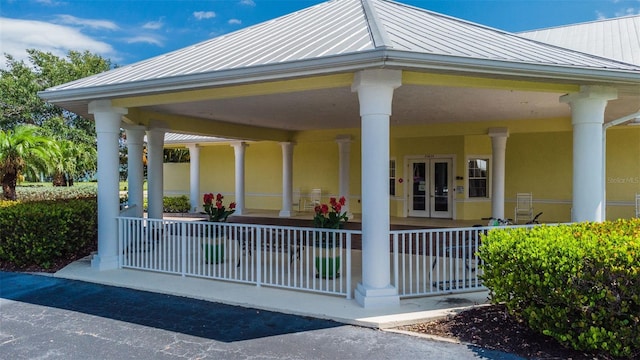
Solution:
[(0, 261), (51, 267), (97, 243), (96, 199), (0, 202)]

